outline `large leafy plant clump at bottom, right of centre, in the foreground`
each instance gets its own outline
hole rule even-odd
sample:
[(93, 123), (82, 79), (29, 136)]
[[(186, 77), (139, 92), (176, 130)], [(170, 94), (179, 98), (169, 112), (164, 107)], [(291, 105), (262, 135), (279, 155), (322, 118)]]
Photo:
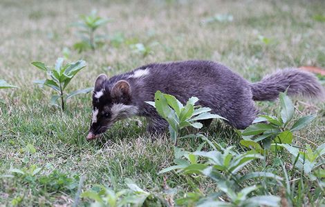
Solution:
[[(203, 135), (201, 135), (203, 136)], [(203, 138), (207, 140), (207, 138)], [(216, 193), (204, 195), (201, 190), (195, 190), (188, 193), (185, 198), (178, 199), (178, 205), (185, 206), (277, 206), (279, 197), (273, 195), (254, 195), (248, 197), (252, 191), (257, 190), (257, 186), (243, 187), (244, 183), (248, 180), (263, 177), (264, 179), (275, 179), (278, 184), (283, 180), (281, 177), (273, 174), (272, 172), (248, 172), (241, 173), (249, 164), (256, 159), (264, 159), (263, 156), (254, 150), (239, 153), (234, 151), (234, 147), (223, 148), (219, 144), (212, 144), (207, 141), (214, 150), (212, 151), (199, 151), (186, 152), (184, 150), (176, 149), (178, 155), (174, 159), (176, 166), (170, 166), (161, 170), (159, 173), (169, 172), (176, 170), (177, 173), (184, 175), (197, 175), (201, 174), (205, 177), (212, 179), (216, 186), (220, 189)], [(185, 159), (184, 159), (185, 158)], [(204, 158), (204, 159), (202, 159)], [(195, 188), (195, 187), (194, 187)], [(227, 197), (224, 201), (219, 197)], [(189, 205), (193, 204), (193, 205)]]

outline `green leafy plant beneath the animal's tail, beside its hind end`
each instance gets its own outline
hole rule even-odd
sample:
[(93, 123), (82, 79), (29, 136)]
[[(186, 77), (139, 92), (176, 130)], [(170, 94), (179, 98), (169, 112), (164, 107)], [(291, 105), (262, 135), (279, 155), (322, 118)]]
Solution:
[[(248, 126), (241, 135), (241, 145), (254, 148), (256, 150), (275, 149), (277, 144), (291, 144), (293, 141), (293, 132), (301, 130), (310, 124), (315, 115), (308, 115), (299, 117), (297, 121), (293, 121), (295, 115), (295, 107), (293, 102), (285, 93), (280, 93), (280, 109), (279, 115), (259, 115), (257, 119), (253, 121), (251, 126)], [(261, 123), (262, 122), (262, 123)], [(261, 143), (261, 145), (259, 144)]]

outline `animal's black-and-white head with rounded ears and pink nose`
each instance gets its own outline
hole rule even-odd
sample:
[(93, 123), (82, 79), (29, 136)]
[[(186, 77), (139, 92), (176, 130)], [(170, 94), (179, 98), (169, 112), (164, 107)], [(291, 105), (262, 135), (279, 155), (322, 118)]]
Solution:
[(104, 74), (97, 77), (93, 92), (93, 115), (87, 139), (95, 139), (115, 121), (136, 115), (138, 108), (131, 105), (131, 86), (128, 81), (111, 83)]

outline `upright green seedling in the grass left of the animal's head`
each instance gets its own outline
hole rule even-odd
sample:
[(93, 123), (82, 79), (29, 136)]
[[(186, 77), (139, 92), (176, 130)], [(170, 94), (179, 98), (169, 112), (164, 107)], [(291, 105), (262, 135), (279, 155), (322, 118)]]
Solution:
[(53, 106), (58, 106), (57, 101), (61, 100), (61, 108), (64, 110), (64, 103), (74, 97), (75, 95), (87, 93), (93, 90), (93, 88), (84, 88), (80, 90), (75, 90), (68, 94), (65, 93), (66, 86), (70, 83), (71, 79), (75, 77), (77, 72), (86, 67), (86, 62), (83, 60), (76, 61), (74, 63), (63, 64), (64, 59), (58, 58), (54, 68), (45, 66), (44, 63), (35, 61), (32, 62), (32, 65), (43, 70), (48, 75), (48, 78), (45, 80), (37, 80), (34, 83), (39, 83), (43, 86), (48, 86), (57, 92), (57, 95), (53, 95), (50, 99), (50, 103)]

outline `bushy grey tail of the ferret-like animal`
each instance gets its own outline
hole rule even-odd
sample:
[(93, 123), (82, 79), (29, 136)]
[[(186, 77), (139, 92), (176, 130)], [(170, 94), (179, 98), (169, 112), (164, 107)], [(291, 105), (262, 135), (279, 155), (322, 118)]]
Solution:
[(298, 69), (284, 69), (264, 77), (257, 83), (252, 83), (254, 101), (270, 101), (277, 99), (279, 92), (287, 89), (288, 95), (324, 100), (324, 87), (310, 72)]

